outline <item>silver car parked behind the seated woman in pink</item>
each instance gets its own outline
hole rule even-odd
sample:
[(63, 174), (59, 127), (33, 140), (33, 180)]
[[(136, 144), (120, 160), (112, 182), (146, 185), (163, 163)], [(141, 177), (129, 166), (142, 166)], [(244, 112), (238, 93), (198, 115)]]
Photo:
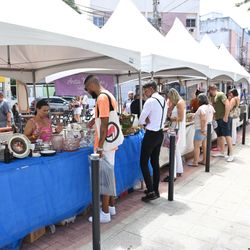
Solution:
[(31, 112), (35, 111), (36, 103), (40, 100), (46, 100), (49, 103), (50, 111), (52, 112), (64, 112), (69, 111), (70, 106), (69, 102), (59, 96), (52, 96), (50, 98), (47, 97), (38, 97), (31, 102), (30, 110)]

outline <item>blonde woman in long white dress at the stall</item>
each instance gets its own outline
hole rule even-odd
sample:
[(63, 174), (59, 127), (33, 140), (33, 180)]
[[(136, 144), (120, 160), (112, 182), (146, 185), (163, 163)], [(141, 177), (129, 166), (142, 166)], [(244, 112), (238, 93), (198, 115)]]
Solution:
[[(168, 99), (172, 105), (170, 121), (171, 128), (177, 131), (177, 141), (175, 147), (175, 177), (180, 177), (183, 173), (183, 162), (181, 155), (186, 147), (186, 103), (179, 95), (178, 91), (171, 88), (168, 92)], [(167, 176), (164, 181), (169, 181)]]

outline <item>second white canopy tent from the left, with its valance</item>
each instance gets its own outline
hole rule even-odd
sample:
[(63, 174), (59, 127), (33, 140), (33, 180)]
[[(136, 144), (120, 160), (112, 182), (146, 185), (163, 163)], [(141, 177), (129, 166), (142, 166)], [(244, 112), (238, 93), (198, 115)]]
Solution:
[[(129, 18), (127, 18), (128, 13)], [(101, 31), (110, 39), (108, 43), (140, 51), (142, 72), (150, 73), (182, 67), (190, 67), (198, 71), (208, 68), (201, 61), (193, 60), (193, 55), (188, 56), (186, 50), (181, 50), (179, 53), (180, 47), (176, 46), (177, 38), (171, 35), (171, 41), (168, 38), (165, 39), (130, 0), (120, 0)]]

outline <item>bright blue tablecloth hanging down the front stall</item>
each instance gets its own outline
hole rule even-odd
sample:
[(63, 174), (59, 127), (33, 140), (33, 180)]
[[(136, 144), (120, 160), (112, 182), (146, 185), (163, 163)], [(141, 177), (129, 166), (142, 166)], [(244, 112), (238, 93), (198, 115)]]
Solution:
[[(142, 179), (142, 138), (143, 132), (127, 137), (116, 153), (118, 194)], [(92, 151), (0, 163), (0, 248), (76, 215), (91, 203), (88, 155)]]

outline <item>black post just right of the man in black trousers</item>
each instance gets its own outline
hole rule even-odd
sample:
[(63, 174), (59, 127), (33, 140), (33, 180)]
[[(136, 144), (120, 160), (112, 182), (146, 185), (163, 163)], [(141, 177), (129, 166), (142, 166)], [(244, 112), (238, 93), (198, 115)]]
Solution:
[(170, 135), (169, 148), (169, 182), (168, 182), (168, 200), (174, 200), (174, 175), (175, 175), (175, 134)]

